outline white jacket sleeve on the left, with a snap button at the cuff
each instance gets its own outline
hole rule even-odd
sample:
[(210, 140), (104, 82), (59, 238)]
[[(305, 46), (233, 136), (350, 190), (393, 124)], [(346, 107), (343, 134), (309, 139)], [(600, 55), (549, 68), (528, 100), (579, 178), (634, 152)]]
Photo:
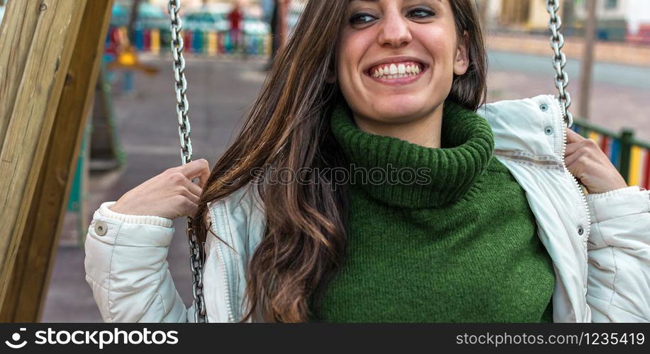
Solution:
[(186, 322), (186, 309), (169, 273), (172, 220), (123, 215), (101, 205), (86, 236), (86, 282), (106, 322)]

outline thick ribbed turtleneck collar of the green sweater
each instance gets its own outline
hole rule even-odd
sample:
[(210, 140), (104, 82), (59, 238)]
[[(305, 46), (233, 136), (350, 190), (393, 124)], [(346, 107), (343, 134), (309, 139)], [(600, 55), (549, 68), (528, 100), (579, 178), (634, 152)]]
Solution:
[[(461, 198), (485, 171), (494, 149), (488, 122), (451, 101), (444, 103), (439, 149), (363, 132), (344, 103), (332, 111), (331, 127), (349, 164), (353, 188), (409, 209), (439, 207)], [(370, 181), (364, 181), (363, 173)]]

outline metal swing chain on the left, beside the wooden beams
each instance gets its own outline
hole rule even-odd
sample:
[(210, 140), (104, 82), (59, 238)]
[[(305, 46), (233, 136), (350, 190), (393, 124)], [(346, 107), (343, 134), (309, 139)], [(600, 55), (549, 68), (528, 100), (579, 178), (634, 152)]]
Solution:
[[(174, 59), (174, 91), (176, 91), (176, 114), (179, 121), (179, 138), (181, 141), (181, 161), (188, 164), (192, 161), (192, 142), (189, 137), (191, 127), (189, 124), (189, 102), (187, 101), (187, 81), (185, 79), (185, 57), (183, 55), (184, 42), (181, 35), (183, 23), (179, 16), (181, 9), (180, 0), (169, 0), (167, 6), (172, 19), (172, 57)], [(206, 302), (203, 299), (203, 244), (196, 238), (191, 217), (187, 218), (187, 238), (190, 247), (190, 268), (192, 271), (192, 295), (194, 296), (194, 321), (204, 323), (206, 316)]]

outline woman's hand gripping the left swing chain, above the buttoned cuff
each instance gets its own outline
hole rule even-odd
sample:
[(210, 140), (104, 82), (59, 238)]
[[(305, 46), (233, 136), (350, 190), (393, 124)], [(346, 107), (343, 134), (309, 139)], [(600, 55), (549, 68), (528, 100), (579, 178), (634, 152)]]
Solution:
[[(194, 215), (203, 185), (210, 176), (206, 160), (168, 169), (149, 181), (129, 190), (113, 206), (113, 212), (127, 215), (150, 215), (176, 219)], [(192, 183), (198, 178), (198, 185)]]

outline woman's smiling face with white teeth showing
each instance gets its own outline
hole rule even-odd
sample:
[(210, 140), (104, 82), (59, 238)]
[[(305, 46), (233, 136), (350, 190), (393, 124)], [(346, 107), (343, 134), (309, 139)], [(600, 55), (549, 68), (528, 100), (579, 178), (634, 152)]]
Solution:
[(337, 76), (357, 118), (413, 122), (444, 102), (469, 65), (449, 1), (349, 1)]

